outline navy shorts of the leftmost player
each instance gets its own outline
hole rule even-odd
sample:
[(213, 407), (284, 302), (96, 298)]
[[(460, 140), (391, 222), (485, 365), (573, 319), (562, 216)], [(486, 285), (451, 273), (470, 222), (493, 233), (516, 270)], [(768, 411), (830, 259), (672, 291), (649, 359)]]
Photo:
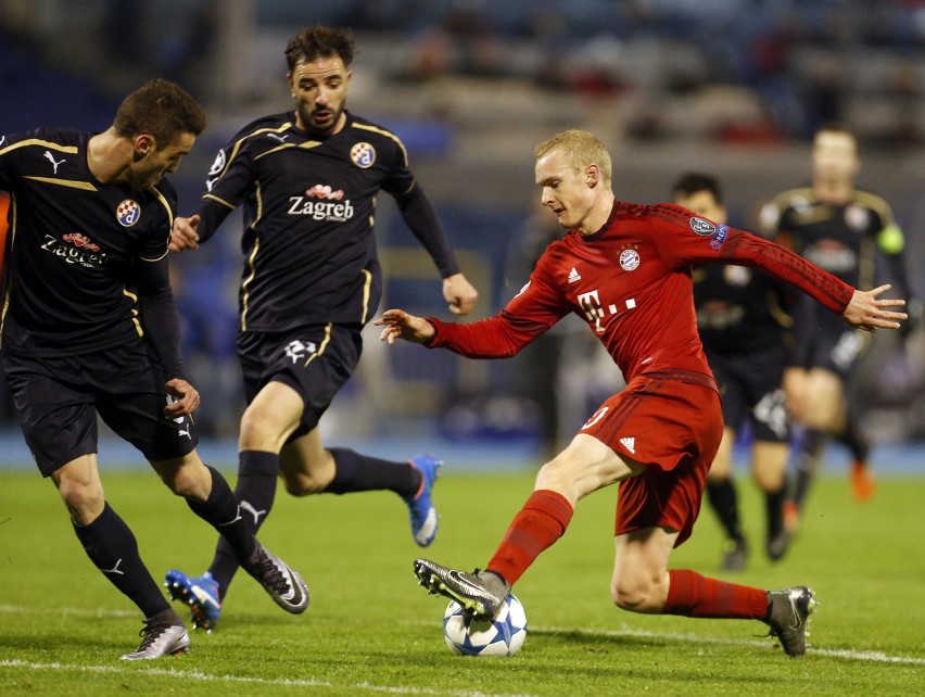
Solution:
[(182, 457), (197, 446), (190, 417), (164, 415), (164, 376), (144, 343), (77, 356), (8, 353), (3, 367), (26, 444), (45, 477), (97, 452), (98, 415), (149, 461)]

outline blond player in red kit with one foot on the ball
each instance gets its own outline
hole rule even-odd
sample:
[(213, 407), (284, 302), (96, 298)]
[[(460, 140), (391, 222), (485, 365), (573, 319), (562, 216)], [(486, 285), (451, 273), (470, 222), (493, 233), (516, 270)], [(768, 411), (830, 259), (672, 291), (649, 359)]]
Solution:
[(770, 592), (668, 568), (672, 549), (690, 536), (723, 433), (717, 382), (697, 334), (690, 267), (760, 268), (870, 331), (898, 328), (905, 314), (885, 308), (903, 302), (877, 300), (888, 287), (854, 290), (773, 242), (681, 206), (617, 201), (610, 155), (586, 131), (559, 134), (535, 155), (542, 201), (569, 231), (546, 249), (520, 293), (494, 317), (468, 325), (401, 309), (385, 312), (376, 325), (389, 343), (404, 339), (472, 358), (502, 358), (575, 314), (610, 353), (626, 388), (540, 469), (533, 493), (484, 571), (417, 559), (415, 573), (430, 592), (493, 618), (511, 585), (565, 533), (578, 502), (619, 482), (610, 582), (618, 607), (762, 620), (788, 655), (803, 654), (814, 605), (810, 588)]

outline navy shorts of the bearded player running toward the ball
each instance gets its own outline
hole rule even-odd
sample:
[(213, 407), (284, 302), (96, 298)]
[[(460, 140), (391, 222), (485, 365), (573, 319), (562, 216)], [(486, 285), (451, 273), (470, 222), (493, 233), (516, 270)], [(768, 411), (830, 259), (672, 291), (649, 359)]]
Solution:
[(302, 419), (289, 440), (308, 433), (356, 369), (363, 352), (362, 329), (359, 325), (329, 324), (238, 334), (248, 404), (268, 382), (288, 384), (304, 403)]

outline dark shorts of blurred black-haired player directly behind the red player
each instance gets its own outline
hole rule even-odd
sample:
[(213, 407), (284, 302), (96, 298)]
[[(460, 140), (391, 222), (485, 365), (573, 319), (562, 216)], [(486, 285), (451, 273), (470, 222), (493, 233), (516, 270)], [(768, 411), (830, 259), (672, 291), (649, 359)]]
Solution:
[(723, 421), (740, 430), (750, 419), (756, 441), (785, 443), (790, 422), (781, 383), (786, 354), (783, 345), (747, 354), (707, 353), (723, 398)]

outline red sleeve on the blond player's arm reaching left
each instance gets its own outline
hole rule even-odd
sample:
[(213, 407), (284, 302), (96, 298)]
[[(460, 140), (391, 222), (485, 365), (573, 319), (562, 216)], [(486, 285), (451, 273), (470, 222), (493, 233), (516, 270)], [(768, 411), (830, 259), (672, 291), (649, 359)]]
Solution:
[(548, 251), (536, 263), (530, 281), (494, 317), (468, 325), (427, 320), (436, 333), (427, 344), (449, 348), (468, 358), (509, 358), (571, 312), (558, 290), (546, 279)]

